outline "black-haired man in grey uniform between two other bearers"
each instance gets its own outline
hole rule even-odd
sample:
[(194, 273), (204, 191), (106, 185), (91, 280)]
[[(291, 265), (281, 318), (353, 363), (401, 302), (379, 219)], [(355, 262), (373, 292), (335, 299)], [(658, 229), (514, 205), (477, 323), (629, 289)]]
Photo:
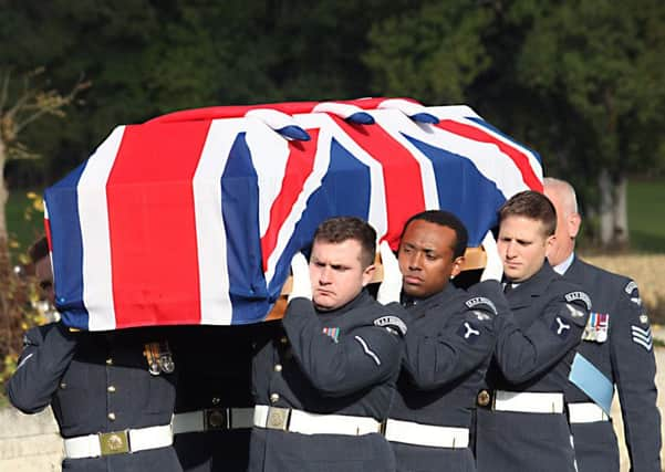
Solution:
[[(399, 242), (399, 261), (382, 252), (384, 283), (403, 277), (411, 319), (406, 355), (397, 380), (385, 436), (397, 470), (449, 472), (476, 470), (469, 428), (476, 394), (495, 346), (495, 305), (487, 296), (456, 289), (467, 230), (453, 213), (429, 210), (412, 217)], [(475, 286), (503, 297), (493, 281)], [(485, 275), (485, 274), (484, 274)], [(381, 295), (381, 292), (380, 292)]]

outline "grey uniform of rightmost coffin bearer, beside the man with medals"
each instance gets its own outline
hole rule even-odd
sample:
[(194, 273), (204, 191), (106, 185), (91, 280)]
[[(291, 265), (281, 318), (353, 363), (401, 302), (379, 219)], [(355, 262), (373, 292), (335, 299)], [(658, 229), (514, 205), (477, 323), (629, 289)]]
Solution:
[[(497, 298), (497, 346), (487, 374), (490, 391), (561, 394), (589, 316), (589, 300), (545, 262), (531, 279)], [(478, 408), (476, 455), (485, 471), (573, 471), (563, 412)]]

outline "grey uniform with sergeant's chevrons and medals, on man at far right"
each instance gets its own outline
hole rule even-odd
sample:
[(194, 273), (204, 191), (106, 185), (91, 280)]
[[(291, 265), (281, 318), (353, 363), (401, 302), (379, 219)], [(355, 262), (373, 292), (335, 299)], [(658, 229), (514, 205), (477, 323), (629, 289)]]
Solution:
[[(637, 285), (578, 259), (563, 275), (591, 296), (592, 316), (578, 348), (616, 386), (632, 470), (661, 471), (661, 416), (648, 318)], [(569, 402), (592, 401), (569, 384)], [(609, 421), (573, 424), (580, 471), (619, 470), (619, 449)]]

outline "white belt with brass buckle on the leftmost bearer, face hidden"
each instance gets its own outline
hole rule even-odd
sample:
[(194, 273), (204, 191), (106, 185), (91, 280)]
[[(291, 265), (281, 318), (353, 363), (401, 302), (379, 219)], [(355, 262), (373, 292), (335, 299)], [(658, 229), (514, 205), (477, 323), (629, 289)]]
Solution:
[(173, 443), (170, 424), (124, 431), (101, 432), (64, 439), (64, 455), (67, 459), (98, 458), (166, 448)]

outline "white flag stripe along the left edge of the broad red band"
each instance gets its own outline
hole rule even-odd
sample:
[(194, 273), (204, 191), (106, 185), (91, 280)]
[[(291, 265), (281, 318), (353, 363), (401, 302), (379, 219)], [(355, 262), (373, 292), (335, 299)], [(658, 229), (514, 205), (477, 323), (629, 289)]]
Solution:
[(124, 133), (125, 127), (118, 126), (100, 145), (87, 160), (76, 187), (83, 242), (83, 280), (94, 281), (83, 284), (90, 331), (115, 328), (106, 182)]

